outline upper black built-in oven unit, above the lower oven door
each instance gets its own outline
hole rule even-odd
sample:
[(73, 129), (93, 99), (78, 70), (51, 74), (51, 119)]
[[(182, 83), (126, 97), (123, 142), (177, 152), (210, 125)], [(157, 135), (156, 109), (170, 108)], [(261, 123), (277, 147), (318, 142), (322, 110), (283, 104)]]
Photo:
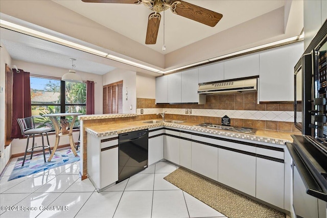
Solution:
[(327, 20), (294, 67), (294, 124), (327, 158)]

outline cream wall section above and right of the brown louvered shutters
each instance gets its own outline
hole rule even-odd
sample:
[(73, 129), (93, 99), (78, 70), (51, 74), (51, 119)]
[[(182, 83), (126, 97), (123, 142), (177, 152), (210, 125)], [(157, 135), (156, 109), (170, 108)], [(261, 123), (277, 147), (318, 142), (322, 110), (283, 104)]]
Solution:
[[(136, 72), (114, 69), (102, 76), (102, 84), (108, 85), (123, 80), (123, 113), (136, 113)], [(126, 88), (128, 100), (126, 100)], [(132, 109), (130, 106), (132, 105)]]

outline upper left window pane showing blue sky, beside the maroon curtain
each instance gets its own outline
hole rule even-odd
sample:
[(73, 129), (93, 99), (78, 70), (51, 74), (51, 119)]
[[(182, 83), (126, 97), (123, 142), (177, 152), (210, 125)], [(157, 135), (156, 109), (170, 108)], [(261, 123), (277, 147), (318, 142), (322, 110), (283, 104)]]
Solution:
[(32, 104), (60, 104), (60, 81), (30, 77)]

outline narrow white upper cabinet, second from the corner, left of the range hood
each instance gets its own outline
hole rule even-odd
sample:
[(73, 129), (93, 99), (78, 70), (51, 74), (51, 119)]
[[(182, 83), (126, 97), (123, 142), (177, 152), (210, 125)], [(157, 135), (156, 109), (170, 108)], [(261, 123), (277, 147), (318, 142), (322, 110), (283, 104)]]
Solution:
[(168, 103), (181, 103), (181, 72), (168, 75)]

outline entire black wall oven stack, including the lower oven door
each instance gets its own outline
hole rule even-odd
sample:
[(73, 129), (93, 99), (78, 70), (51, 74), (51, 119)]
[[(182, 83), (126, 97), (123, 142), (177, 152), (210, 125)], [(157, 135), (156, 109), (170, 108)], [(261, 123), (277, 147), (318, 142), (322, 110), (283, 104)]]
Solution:
[(294, 67), (294, 124), (302, 136), (292, 135), (293, 143), (286, 143), (306, 192), (323, 201), (327, 201), (326, 51), (327, 20)]

